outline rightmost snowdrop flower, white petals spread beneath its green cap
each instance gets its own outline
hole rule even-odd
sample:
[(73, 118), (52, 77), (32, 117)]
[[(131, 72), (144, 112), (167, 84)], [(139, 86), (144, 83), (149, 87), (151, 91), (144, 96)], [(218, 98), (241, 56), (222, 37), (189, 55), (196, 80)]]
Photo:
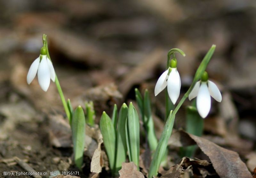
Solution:
[(217, 85), (208, 80), (208, 74), (207, 72), (204, 72), (201, 81), (196, 82), (196, 85), (188, 95), (189, 100), (196, 97), (196, 108), (199, 115), (203, 118), (205, 118), (210, 112), (211, 96), (218, 102), (221, 102), (222, 100), (220, 90)]

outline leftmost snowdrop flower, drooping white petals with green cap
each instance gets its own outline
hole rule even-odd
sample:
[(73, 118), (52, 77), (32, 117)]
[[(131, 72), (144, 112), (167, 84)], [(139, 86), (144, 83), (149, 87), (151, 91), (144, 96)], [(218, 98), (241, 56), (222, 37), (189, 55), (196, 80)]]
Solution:
[(27, 82), (29, 85), (36, 77), (37, 73), (38, 83), (45, 92), (49, 88), (51, 79), (53, 82), (55, 82), (55, 71), (51, 60), (46, 54), (47, 49), (42, 47), (40, 56), (31, 64), (27, 75)]

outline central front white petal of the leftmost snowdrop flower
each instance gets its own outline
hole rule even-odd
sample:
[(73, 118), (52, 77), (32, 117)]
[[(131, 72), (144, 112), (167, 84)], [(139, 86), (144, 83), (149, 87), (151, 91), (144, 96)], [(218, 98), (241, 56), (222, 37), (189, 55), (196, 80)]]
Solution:
[(42, 90), (46, 92), (49, 88), (50, 81), (51, 81), (50, 69), (46, 60), (46, 56), (43, 56), (39, 64), (37, 77), (38, 77), (39, 85), (41, 86)]

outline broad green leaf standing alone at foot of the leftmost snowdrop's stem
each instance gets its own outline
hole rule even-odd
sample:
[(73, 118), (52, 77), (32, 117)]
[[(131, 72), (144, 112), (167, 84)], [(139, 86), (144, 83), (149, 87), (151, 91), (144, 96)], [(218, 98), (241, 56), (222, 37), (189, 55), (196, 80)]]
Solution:
[(83, 165), (85, 139), (85, 118), (84, 111), (81, 106), (78, 106), (74, 112), (71, 129), (75, 164), (81, 170)]

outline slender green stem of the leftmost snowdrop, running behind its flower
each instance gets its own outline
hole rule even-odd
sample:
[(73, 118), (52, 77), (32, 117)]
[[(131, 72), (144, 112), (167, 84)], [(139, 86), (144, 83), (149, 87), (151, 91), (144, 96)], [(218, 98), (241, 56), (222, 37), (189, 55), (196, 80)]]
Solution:
[[(49, 50), (48, 50), (48, 44), (47, 44), (47, 39), (46, 39), (46, 37), (47, 37), (47, 35), (44, 34), (44, 35), (43, 35), (43, 43), (44, 43), (45, 48), (47, 49), (47, 57), (51, 60), (51, 57), (50, 57), (50, 54), (49, 54)], [(51, 60), (51, 61), (52, 61), (52, 60)], [(57, 74), (55, 73), (55, 75), (56, 75), (56, 77), (55, 77), (55, 84), (56, 84), (57, 90), (58, 90), (58, 92), (59, 92), (60, 99), (61, 99), (61, 101), (62, 101), (62, 104), (63, 104), (63, 107), (64, 107), (64, 109), (65, 109), (66, 115), (67, 115), (67, 117), (68, 117), (68, 121), (69, 121), (69, 123), (70, 123), (70, 121), (71, 121), (71, 117), (70, 117), (70, 116), (71, 116), (71, 115), (70, 115), (70, 112), (69, 112), (69, 110), (68, 110), (68, 104), (67, 104), (66, 99), (65, 99), (65, 97), (64, 97), (64, 94), (63, 94), (63, 92), (62, 92), (62, 89), (61, 89), (60, 82), (59, 82), (59, 80), (58, 80)]]

